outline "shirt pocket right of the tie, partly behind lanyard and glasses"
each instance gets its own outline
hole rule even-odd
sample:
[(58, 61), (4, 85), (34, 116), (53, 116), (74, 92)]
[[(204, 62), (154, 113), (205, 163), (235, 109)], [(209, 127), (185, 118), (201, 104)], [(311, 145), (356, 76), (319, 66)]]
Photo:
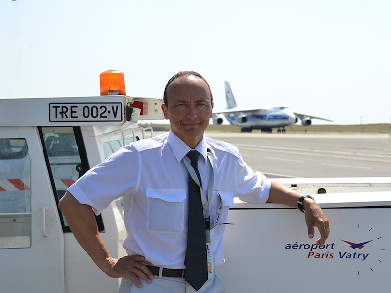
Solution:
[[(221, 195), (221, 201), (220, 201), (219, 193)], [(221, 203), (222, 203), (222, 208), (220, 213)], [(217, 225), (212, 228), (211, 233), (213, 234), (224, 233), (225, 226), (226, 226), (225, 223), (227, 223), (229, 207), (232, 207), (233, 205), (234, 205), (234, 198), (232, 193), (213, 191), (211, 197), (211, 204), (209, 205), (211, 222), (212, 222), (211, 226), (216, 224), (217, 219), (218, 222)], [(220, 218), (218, 218), (219, 213), (220, 213)]]

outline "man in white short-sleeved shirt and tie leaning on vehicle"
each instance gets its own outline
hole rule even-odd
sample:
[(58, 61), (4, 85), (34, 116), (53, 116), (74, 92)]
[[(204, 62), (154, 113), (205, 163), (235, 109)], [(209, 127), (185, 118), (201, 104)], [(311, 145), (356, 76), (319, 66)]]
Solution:
[[(98, 267), (111, 277), (123, 278), (120, 292), (130, 292), (134, 285), (142, 288), (141, 292), (224, 292), (216, 276), (206, 282), (202, 280), (200, 289), (197, 285), (188, 284), (190, 267), (193, 262), (198, 262), (198, 259), (189, 262), (190, 256), (186, 254), (193, 244), (193, 240), (188, 242), (187, 237), (188, 230), (189, 235), (193, 230), (193, 218), (188, 220), (188, 213), (193, 213), (190, 212), (193, 204), (189, 195), (194, 191), (191, 191), (190, 185), (192, 180), (194, 184), (197, 181), (197, 175), (193, 179), (189, 177), (192, 167), (186, 167), (189, 164), (185, 162), (190, 161), (191, 150), (200, 153), (198, 166), (193, 168), (199, 170), (199, 185), (209, 197), (204, 209), (210, 208), (210, 222), (205, 220), (203, 229), (212, 227), (217, 221), (225, 223), (229, 205), (232, 205), (235, 196), (247, 202), (267, 201), (291, 207), (296, 207), (302, 197), (263, 174), (254, 173), (235, 146), (204, 137), (212, 117), (212, 107), (212, 93), (202, 76), (191, 71), (174, 75), (166, 86), (162, 105), (165, 119), (170, 120), (170, 133), (124, 146), (88, 171), (59, 202), (76, 239)], [(191, 160), (193, 166), (194, 160)], [(208, 182), (212, 173), (213, 192), (210, 192)], [(197, 192), (201, 194), (199, 189)], [(128, 256), (115, 259), (99, 236), (92, 209), (99, 214), (120, 196), (124, 199), (128, 231), (124, 247)], [(314, 227), (318, 227), (321, 238), (316, 244), (323, 245), (329, 234), (326, 216), (311, 198), (302, 198), (302, 207), (309, 237), (314, 236)], [(205, 245), (202, 244), (203, 252), (199, 253), (199, 259), (205, 263), (206, 275), (206, 257), (209, 261), (213, 255), (216, 266), (224, 261), (224, 226), (212, 228), (209, 230), (210, 239), (205, 236), (202, 240)], [(208, 234), (208, 229), (205, 234)], [(178, 271), (185, 274), (186, 281), (182, 274), (165, 276)]]

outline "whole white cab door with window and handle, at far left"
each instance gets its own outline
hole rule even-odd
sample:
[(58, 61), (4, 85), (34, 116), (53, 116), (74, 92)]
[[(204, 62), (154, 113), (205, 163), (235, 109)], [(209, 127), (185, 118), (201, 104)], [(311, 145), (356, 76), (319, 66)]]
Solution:
[(37, 128), (1, 127), (1, 292), (64, 293), (63, 247)]

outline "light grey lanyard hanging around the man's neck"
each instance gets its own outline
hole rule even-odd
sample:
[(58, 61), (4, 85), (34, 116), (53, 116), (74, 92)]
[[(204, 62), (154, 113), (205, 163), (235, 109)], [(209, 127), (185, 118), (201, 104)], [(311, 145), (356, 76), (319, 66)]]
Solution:
[[(210, 200), (211, 200), (211, 197), (212, 197), (213, 182), (214, 182), (214, 178), (215, 178), (214, 177), (214, 173), (213, 173), (213, 160), (212, 160), (211, 150), (208, 148), (208, 160), (209, 160), (209, 162), (211, 163), (211, 166), (212, 166), (212, 173), (209, 176), (209, 180), (208, 180), (208, 198), (205, 196), (205, 193), (204, 193), (204, 191), (201, 188), (201, 184), (199, 182), (198, 176), (195, 173), (195, 170), (194, 170), (193, 166), (189, 163), (189, 161), (185, 160), (185, 158), (183, 158), (182, 160), (185, 163), (185, 166), (186, 166), (187, 170), (189, 171), (190, 176), (192, 177), (194, 182), (199, 187), (199, 191), (200, 191), (200, 194), (201, 194), (202, 207), (205, 210), (205, 235), (206, 235), (206, 242), (210, 243), (211, 242), (211, 237), (210, 237), (211, 227), (210, 227), (209, 203), (210, 203)], [(221, 196), (220, 196), (220, 201), (221, 201)], [(214, 226), (216, 226), (216, 224)]]

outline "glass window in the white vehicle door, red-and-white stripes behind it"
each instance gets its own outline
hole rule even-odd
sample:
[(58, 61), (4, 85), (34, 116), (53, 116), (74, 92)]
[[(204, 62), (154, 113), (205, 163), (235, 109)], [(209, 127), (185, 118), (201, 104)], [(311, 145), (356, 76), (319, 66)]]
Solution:
[(31, 247), (31, 159), (25, 139), (0, 139), (0, 249)]

